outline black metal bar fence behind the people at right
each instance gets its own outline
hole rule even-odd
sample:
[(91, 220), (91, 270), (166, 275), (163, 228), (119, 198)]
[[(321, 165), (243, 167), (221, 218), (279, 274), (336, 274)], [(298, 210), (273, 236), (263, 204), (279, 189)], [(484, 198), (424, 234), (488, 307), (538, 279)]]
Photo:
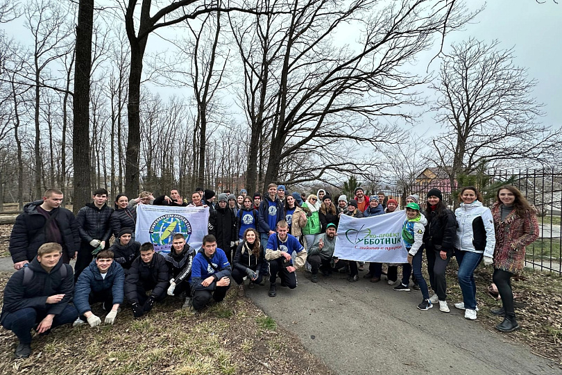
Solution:
[[(537, 210), (539, 228), (538, 239), (527, 246), (525, 267), (562, 274), (562, 172), (554, 169), (488, 171), (469, 180), (470, 185), (483, 192), (484, 204), (488, 207), (497, 200), (497, 189), (501, 185), (516, 186), (522, 192)], [(443, 201), (454, 209), (458, 206), (457, 186), (461, 188), (461, 181), (454, 181), (454, 189), (451, 189), (446, 178), (433, 178), (416, 181), (404, 190), (380, 191), (396, 199), (403, 208), (409, 194), (418, 194), (420, 203), (425, 203), (427, 192), (438, 188), (443, 193)]]

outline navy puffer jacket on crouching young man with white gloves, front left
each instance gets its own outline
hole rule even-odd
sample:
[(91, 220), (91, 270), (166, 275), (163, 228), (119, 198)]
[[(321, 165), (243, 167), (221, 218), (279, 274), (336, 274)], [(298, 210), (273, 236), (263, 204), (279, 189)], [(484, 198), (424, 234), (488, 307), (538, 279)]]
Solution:
[(101, 277), (101, 272), (96, 265), (96, 260), (86, 267), (78, 276), (76, 288), (74, 288), (74, 307), (78, 314), (83, 315), (92, 310), (90, 307), (90, 292), (100, 293), (111, 291), (113, 304), (123, 303), (123, 287), (125, 283), (125, 272), (119, 263), (112, 262), (105, 278)]

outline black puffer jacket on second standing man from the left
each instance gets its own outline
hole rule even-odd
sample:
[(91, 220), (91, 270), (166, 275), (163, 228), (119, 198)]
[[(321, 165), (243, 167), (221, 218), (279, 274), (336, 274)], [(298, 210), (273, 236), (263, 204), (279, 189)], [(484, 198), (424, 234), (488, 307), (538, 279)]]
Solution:
[(108, 243), (112, 235), (110, 217), (113, 212), (114, 209), (107, 204), (97, 208), (93, 202), (80, 208), (78, 215), (76, 215), (76, 221), (83, 242), (100, 240)]

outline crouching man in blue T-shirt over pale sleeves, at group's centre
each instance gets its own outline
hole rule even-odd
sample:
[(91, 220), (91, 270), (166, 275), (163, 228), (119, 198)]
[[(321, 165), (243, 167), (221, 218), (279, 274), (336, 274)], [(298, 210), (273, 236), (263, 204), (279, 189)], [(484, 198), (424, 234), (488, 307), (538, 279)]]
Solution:
[[(269, 297), (277, 295), (277, 276), (281, 279), (281, 286), (290, 289), (296, 288), (297, 279), (295, 271), (305, 265), (307, 251), (300, 242), (288, 233), (289, 224), (281, 220), (277, 224), (277, 233), (269, 236), (266, 247), (266, 260), (269, 260)], [(293, 265), (293, 252), (297, 253)]]

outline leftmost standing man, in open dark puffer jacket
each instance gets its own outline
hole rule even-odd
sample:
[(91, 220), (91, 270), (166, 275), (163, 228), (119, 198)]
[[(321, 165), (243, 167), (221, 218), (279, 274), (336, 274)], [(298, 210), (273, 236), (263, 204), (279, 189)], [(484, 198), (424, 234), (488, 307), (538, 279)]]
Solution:
[(46, 242), (62, 247), (62, 261), (69, 263), (80, 248), (78, 223), (74, 215), (60, 207), (62, 192), (49, 189), (41, 201), (27, 203), (16, 218), (10, 235), (10, 254), (14, 268), (20, 269), (37, 256), (37, 249)]

